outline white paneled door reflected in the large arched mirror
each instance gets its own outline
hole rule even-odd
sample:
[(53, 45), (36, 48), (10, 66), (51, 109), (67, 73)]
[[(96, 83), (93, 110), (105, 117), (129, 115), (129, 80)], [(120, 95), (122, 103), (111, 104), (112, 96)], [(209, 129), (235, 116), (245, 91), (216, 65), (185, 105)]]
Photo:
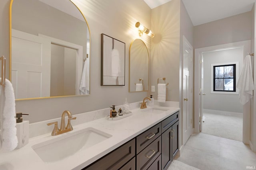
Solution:
[(50, 96), (51, 42), (12, 29), (12, 85), (16, 99)]

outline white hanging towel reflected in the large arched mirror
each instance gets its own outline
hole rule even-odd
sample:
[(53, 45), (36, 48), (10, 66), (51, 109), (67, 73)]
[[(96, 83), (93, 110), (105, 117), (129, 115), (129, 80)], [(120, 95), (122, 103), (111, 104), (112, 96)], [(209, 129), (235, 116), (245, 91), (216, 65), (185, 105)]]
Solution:
[(90, 68), (88, 66), (88, 63), (90, 63), (89, 58), (86, 59), (86, 61), (84, 61), (84, 69), (83, 69), (83, 73), (82, 73), (82, 78), (81, 78), (81, 83), (80, 83), (80, 94), (85, 95), (85, 94), (89, 94), (89, 72), (90, 72)]

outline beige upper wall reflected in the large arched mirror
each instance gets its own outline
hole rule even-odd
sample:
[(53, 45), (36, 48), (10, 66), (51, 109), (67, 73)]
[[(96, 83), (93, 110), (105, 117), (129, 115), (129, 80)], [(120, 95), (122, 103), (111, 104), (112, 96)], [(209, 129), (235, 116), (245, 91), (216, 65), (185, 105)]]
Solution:
[[(71, 11), (77, 10), (72, 3), (66, 4), (70, 5)], [(38, 33), (40, 33), (81, 45), (83, 46), (83, 56), (86, 56), (86, 22), (44, 4), (39, 0), (13, 1), (12, 29), (17, 29), (33, 35), (38, 35)]]

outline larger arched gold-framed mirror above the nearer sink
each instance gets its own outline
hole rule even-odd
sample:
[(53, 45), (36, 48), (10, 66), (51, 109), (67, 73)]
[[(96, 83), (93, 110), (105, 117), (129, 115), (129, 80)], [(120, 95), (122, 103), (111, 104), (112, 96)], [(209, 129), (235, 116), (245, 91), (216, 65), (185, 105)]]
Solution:
[(90, 30), (70, 0), (11, 0), (15, 98), (90, 94)]

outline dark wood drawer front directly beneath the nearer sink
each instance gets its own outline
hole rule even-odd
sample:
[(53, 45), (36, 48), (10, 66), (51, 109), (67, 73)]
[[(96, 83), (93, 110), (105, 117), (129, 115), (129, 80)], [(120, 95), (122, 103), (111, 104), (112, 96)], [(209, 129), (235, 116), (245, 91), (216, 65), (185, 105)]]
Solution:
[(83, 170), (117, 170), (135, 156), (135, 139), (100, 158)]

